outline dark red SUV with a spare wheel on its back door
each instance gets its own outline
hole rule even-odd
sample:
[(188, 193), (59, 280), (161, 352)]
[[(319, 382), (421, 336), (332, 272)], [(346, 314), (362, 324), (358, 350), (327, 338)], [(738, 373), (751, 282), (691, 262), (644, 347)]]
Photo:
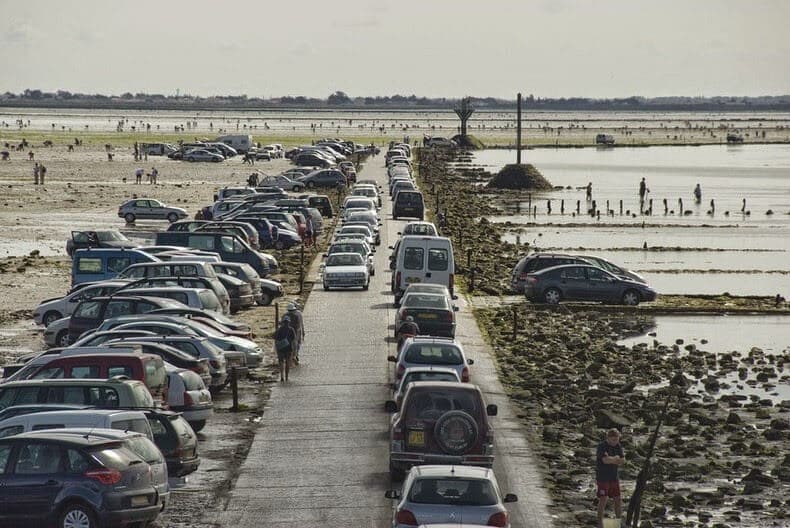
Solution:
[(390, 473), (394, 479), (412, 466), (494, 464), (494, 430), (480, 387), (471, 383), (415, 381), (390, 422)]

